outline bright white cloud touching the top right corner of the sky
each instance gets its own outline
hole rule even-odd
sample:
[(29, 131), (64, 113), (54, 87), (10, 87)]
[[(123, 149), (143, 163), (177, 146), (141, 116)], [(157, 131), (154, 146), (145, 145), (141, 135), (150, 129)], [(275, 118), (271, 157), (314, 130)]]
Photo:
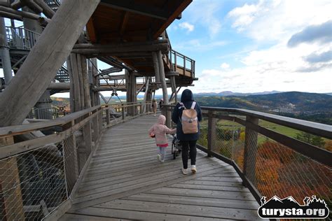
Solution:
[(279, 41), (310, 24), (331, 20), (331, 1), (258, 1), (228, 13), (232, 27), (257, 41)]

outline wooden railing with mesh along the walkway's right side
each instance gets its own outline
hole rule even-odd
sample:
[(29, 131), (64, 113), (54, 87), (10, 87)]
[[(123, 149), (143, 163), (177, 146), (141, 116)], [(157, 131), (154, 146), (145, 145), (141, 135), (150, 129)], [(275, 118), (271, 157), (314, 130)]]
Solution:
[[(163, 106), (168, 115), (172, 108)], [(237, 108), (202, 107), (202, 111), (198, 148), (233, 165), (259, 204), (262, 196), (293, 196), (302, 202), (317, 195), (331, 206), (331, 125)], [(308, 143), (314, 139), (330, 146)]]

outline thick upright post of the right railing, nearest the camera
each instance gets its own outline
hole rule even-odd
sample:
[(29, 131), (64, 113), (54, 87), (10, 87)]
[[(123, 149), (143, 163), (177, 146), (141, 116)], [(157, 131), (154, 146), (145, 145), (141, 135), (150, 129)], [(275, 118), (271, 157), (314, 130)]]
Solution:
[[(258, 118), (246, 117), (246, 121), (252, 124), (258, 124)], [(258, 133), (249, 127), (246, 127), (244, 138), (244, 176), (256, 185), (256, 156), (257, 156)]]

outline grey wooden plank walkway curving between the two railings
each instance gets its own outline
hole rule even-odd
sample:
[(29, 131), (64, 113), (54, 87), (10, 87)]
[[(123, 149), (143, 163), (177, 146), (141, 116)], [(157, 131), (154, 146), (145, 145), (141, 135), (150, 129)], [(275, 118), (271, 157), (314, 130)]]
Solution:
[(105, 131), (60, 220), (258, 219), (258, 204), (232, 166), (198, 151), (198, 173), (184, 176), (171, 148), (158, 162), (147, 134), (156, 120), (146, 115)]

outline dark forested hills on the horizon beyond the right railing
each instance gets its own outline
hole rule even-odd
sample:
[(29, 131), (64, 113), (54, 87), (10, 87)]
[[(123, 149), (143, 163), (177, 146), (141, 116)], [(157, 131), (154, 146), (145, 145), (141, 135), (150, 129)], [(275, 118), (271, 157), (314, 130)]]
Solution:
[(249, 96), (195, 97), (200, 106), (244, 108), (332, 124), (332, 96), (305, 92)]

